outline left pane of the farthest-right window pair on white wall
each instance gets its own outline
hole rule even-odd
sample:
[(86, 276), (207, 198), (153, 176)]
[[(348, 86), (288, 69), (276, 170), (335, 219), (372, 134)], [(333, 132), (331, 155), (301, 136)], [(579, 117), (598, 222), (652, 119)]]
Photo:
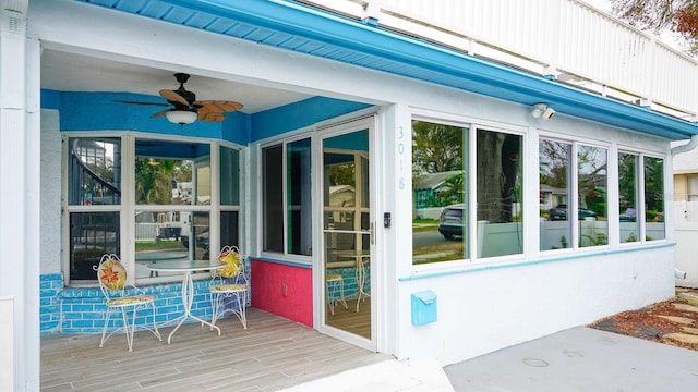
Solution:
[(633, 154), (618, 154), (618, 205), (621, 242), (639, 241), (640, 221), (637, 219), (638, 159)]

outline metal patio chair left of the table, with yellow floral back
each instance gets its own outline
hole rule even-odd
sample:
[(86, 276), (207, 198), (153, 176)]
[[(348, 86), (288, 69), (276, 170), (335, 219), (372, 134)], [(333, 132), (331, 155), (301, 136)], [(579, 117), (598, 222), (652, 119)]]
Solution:
[[(133, 332), (135, 331), (135, 320), (139, 310), (151, 309), (152, 327), (145, 327), (153, 332), (158, 340), (163, 340), (160, 332), (155, 323), (155, 297), (145, 294), (142, 290), (134, 285), (127, 285), (127, 268), (123, 266), (119, 256), (115, 254), (105, 254), (99, 260), (99, 265), (93, 267), (97, 271), (97, 281), (99, 287), (106, 298), (107, 314), (105, 316), (105, 326), (101, 330), (101, 341), (99, 346), (103, 347), (105, 342), (116, 332), (123, 331), (127, 335), (127, 344), (129, 351), (133, 351)], [(127, 286), (129, 291), (133, 291), (133, 295), (127, 295)], [(121, 314), (122, 326), (118, 327), (115, 318), (113, 330), (107, 334), (111, 314)], [(129, 313), (131, 316), (129, 317)], [(147, 317), (146, 317), (147, 321)]]

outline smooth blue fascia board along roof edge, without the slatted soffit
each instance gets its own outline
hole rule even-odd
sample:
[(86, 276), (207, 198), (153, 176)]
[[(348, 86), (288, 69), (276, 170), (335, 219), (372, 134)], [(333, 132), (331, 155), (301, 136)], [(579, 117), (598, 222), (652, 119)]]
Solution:
[(558, 113), (672, 139), (698, 134), (698, 127), (693, 123), (288, 1), (169, 2), (456, 76), (470, 81), (470, 90), (518, 103), (534, 105), (543, 101), (554, 107)]

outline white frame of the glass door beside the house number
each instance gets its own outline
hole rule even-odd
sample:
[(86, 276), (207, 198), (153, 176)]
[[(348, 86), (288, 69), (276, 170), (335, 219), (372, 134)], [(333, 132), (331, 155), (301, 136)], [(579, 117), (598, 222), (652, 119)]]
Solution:
[[(377, 268), (378, 260), (377, 255), (378, 252), (378, 242), (376, 240), (376, 217), (378, 211), (377, 209), (377, 191), (380, 189), (376, 179), (378, 177), (376, 173), (376, 164), (375, 162), (375, 151), (376, 151), (376, 118), (377, 114), (373, 113), (370, 115), (364, 115), (361, 118), (357, 118), (349, 121), (342, 121), (338, 123), (328, 124), (318, 128), (317, 137), (315, 139), (315, 151), (313, 159), (313, 183), (314, 186), (314, 195), (315, 200), (317, 203), (314, 204), (314, 221), (318, 222), (316, 224), (315, 230), (315, 241), (317, 244), (318, 252), (315, 252), (315, 256), (313, 257), (313, 318), (315, 323), (315, 329), (321, 333), (327, 334), (329, 336), (346, 341), (353, 345), (371, 350), (376, 352), (378, 347), (380, 336), (377, 335), (381, 328), (378, 328), (380, 322), (380, 313), (378, 308), (381, 308), (381, 298), (382, 296), (382, 287), (377, 286), (377, 283), (381, 281), (381, 268)], [(326, 304), (325, 296), (325, 235), (324, 235), (324, 167), (323, 167), (323, 143), (325, 139), (349, 134), (352, 132), (358, 132), (362, 130), (369, 131), (369, 221), (370, 221), (370, 230), (372, 232), (370, 240), (370, 261), (369, 268), (371, 269), (370, 275), (370, 287), (371, 287), (371, 339), (365, 339), (359, 336), (357, 334), (340, 330), (338, 328), (328, 326), (325, 323), (326, 314), (329, 311)], [(351, 307), (350, 309), (351, 310)]]

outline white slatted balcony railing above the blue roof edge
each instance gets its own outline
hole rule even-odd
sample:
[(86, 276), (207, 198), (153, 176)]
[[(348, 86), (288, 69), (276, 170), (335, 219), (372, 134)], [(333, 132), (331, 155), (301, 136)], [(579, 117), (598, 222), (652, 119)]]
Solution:
[(698, 119), (698, 63), (577, 0), (308, 0), (384, 28)]

